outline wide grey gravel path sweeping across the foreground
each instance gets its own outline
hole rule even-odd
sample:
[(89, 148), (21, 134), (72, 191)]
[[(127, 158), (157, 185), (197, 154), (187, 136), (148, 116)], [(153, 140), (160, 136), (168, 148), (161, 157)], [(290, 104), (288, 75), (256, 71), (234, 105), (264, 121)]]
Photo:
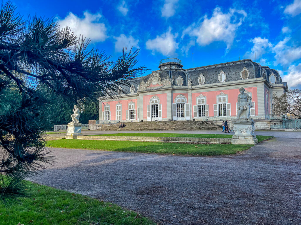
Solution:
[(56, 163), (32, 180), (159, 224), (301, 224), (301, 132), (262, 132), (280, 137), (232, 156), (51, 149)]

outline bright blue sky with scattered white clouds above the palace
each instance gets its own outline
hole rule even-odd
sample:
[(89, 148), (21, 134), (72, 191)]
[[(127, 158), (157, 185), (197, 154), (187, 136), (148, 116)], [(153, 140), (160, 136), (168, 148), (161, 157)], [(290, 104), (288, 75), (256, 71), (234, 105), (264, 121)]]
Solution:
[[(28, 15), (54, 18), (92, 40), (115, 60), (124, 46), (140, 48), (138, 64), (157, 70), (163, 58), (183, 68), (249, 58), (277, 69), (301, 89), (301, 0), (288, 1), (20, 1)], [(256, 56), (255, 56), (256, 55)]]

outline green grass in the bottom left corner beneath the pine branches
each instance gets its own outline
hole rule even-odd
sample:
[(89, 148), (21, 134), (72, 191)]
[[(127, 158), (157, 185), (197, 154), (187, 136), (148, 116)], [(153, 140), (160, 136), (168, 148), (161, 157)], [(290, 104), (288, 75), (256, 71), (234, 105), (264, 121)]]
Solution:
[(110, 202), (100, 202), (81, 194), (27, 182), (30, 199), (5, 208), (0, 204), (1, 225), (155, 225), (136, 212), (124, 210)]

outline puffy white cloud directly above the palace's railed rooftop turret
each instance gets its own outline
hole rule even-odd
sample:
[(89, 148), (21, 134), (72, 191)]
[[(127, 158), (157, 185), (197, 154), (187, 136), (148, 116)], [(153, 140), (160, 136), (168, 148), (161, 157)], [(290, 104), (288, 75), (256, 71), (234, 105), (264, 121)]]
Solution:
[(162, 53), (165, 56), (172, 56), (175, 54), (175, 50), (178, 49), (178, 43), (175, 41), (176, 35), (171, 33), (171, 28), (169, 30), (157, 36), (155, 39), (147, 40), (146, 42), (146, 49), (152, 50), (153, 54), (155, 51)]

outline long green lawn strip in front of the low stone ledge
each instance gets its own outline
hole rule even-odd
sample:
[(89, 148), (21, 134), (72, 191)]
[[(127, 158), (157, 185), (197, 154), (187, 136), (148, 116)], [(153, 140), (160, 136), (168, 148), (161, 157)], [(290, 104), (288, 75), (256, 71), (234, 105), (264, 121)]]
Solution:
[(91, 149), (118, 152), (142, 152), (175, 155), (230, 155), (249, 149), (253, 145), (185, 144), (166, 142), (72, 140), (48, 141), (49, 147)]

